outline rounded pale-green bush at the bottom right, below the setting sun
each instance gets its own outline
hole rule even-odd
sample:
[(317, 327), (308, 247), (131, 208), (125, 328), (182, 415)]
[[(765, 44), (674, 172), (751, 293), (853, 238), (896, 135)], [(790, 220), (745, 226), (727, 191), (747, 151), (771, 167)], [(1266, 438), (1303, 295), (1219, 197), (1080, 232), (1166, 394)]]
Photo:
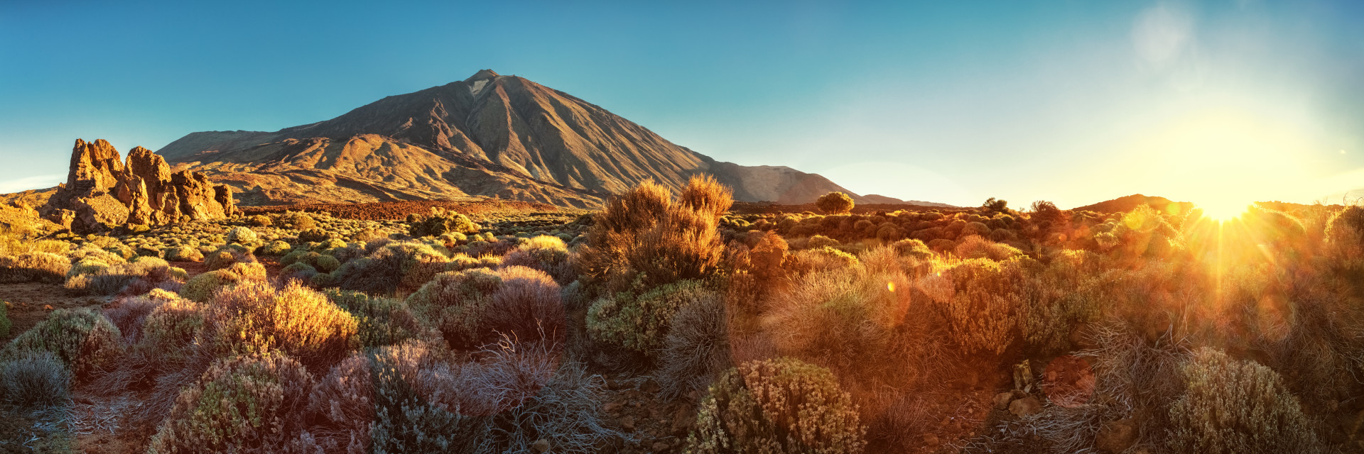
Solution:
[(1316, 453), (1320, 442), (1273, 369), (1203, 348), (1183, 368), (1185, 391), (1170, 405), (1177, 453)]

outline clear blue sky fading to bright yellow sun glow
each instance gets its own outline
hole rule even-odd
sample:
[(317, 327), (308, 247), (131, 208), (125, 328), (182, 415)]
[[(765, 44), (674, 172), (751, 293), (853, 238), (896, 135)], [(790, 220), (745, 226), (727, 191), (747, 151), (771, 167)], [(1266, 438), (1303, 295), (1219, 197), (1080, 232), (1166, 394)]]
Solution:
[(1364, 188), (1364, 1), (0, 0), (0, 192), (480, 68), (722, 161), (1063, 207)]

